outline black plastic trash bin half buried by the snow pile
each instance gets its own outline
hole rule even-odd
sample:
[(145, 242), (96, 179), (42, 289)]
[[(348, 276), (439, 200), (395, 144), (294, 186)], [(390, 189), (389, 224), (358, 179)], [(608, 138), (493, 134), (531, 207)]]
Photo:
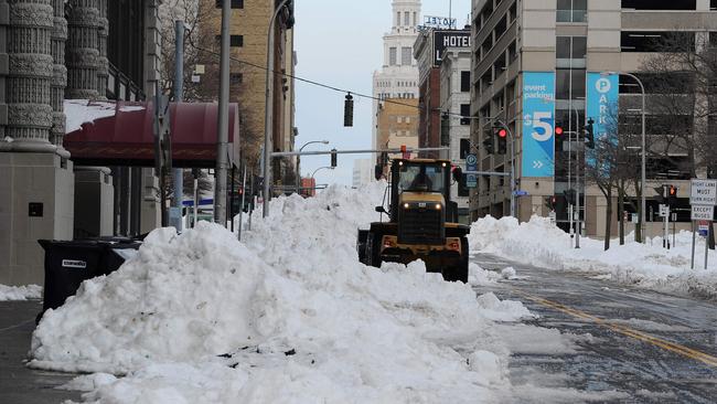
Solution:
[(75, 295), (83, 280), (117, 270), (127, 256), (122, 249), (138, 249), (141, 245), (122, 237), (38, 242), (45, 249), (45, 287), (38, 322), (45, 310), (56, 309)]

